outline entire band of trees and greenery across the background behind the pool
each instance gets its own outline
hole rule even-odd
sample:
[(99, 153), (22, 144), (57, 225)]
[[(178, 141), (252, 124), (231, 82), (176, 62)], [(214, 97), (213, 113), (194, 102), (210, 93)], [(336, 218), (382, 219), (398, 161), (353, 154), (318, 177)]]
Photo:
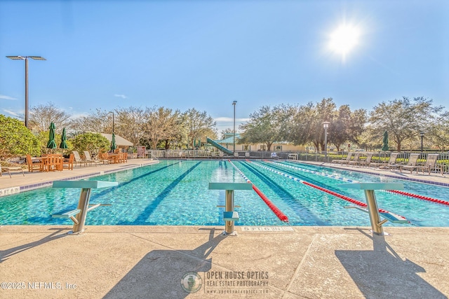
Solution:
[[(443, 106), (434, 106), (431, 99), (402, 97), (381, 102), (371, 111), (351, 110), (349, 105), (337, 107), (332, 98), (307, 104), (280, 104), (262, 106), (250, 114), (250, 119), (239, 126), (239, 144), (265, 144), (268, 151), (274, 142), (289, 142), (295, 145), (313, 145), (324, 150), (323, 122), (329, 122), (328, 146), (342, 151), (347, 143), (356, 144), (366, 150), (382, 147), (384, 131), (389, 134), (390, 148), (401, 151), (417, 148), (420, 132), (424, 132), (427, 148), (444, 151), (449, 145), (448, 111)], [(217, 139), (216, 123), (206, 111), (188, 109), (185, 112), (163, 106), (152, 108), (117, 108), (113, 111), (96, 109), (88, 116), (72, 117), (54, 104), (33, 106), (29, 111), (29, 123), (34, 135), (45, 139), (50, 123), (57, 130), (65, 127), (72, 137), (83, 132), (114, 133), (133, 144), (148, 148), (195, 148), (198, 141), (206, 137)], [(2, 128), (3, 129), (3, 128)], [(5, 127), (6, 129), (6, 127)], [(2, 130), (5, 131), (5, 130)], [(227, 128), (222, 132), (233, 132)], [(25, 136), (25, 131), (15, 137)], [(10, 139), (6, 132), (0, 141)], [(20, 139), (22, 140), (22, 139)], [(39, 143), (39, 141), (37, 141)], [(36, 141), (33, 141), (34, 145)], [(44, 142), (41, 141), (41, 144)], [(15, 147), (32, 147), (29, 142), (16, 142)], [(22, 144), (22, 145), (20, 145)], [(76, 143), (75, 143), (76, 144)], [(5, 146), (0, 146), (0, 154)]]

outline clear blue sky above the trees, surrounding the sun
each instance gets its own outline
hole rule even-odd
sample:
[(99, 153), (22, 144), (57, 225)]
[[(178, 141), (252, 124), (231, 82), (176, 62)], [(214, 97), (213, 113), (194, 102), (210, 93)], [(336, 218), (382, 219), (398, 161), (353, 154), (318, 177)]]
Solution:
[[(359, 31), (344, 58), (328, 46)], [(448, 106), (449, 1), (0, 1), (0, 113), (54, 103), (207, 111), (218, 129), (262, 105), (373, 106), (428, 97)]]

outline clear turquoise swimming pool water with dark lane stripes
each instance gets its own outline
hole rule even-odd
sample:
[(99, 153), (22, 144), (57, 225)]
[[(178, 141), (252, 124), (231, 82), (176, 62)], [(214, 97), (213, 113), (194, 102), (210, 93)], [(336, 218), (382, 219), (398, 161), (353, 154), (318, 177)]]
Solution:
[[(344, 209), (349, 202), (276, 174), (274, 170), (361, 202), (366, 202), (363, 191), (339, 185), (348, 181), (401, 182), (408, 193), (449, 201), (448, 188), (385, 176), (288, 161), (234, 160), (233, 163), (288, 216), (290, 225), (370, 226), (370, 221), (366, 213)], [(93, 190), (91, 203), (111, 206), (89, 211), (87, 225), (223, 225), (223, 209), (216, 206), (225, 203), (225, 191), (208, 190), (208, 183), (245, 182), (232, 163), (225, 160), (161, 160), (156, 165), (90, 180), (117, 181), (119, 186)], [(381, 209), (405, 216), (411, 222), (405, 226), (449, 226), (449, 206), (382, 191), (377, 191), (376, 197)], [(79, 190), (70, 188), (41, 188), (0, 197), (0, 224), (72, 225), (70, 220), (51, 218), (51, 215), (75, 209), (78, 198)], [(253, 190), (237, 190), (234, 201), (241, 205), (237, 209), (240, 220), (236, 225), (288, 225)]]

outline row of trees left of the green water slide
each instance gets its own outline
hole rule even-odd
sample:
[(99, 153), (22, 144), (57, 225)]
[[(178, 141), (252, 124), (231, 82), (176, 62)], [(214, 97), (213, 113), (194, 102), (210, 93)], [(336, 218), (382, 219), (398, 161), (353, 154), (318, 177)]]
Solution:
[(215, 139), (215, 121), (206, 111), (188, 109), (185, 112), (154, 106), (141, 109), (130, 106), (113, 111), (95, 109), (88, 116), (72, 118), (54, 104), (33, 106), (29, 111), (29, 123), (36, 132), (48, 132), (53, 121), (62, 130), (66, 128), (72, 135), (82, 132), (101, 132), (115, 134), (133, 144), (148, 148), (181, 148), (184, 145), (193, 148), (194, 142)]

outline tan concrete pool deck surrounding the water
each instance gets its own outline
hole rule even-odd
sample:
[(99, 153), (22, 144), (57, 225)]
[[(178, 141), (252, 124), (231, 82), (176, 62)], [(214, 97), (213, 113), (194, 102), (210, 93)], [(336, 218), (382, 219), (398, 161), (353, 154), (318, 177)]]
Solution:
[[(13, 179), (8, 174), (0, 178), (0, 189), (149, 162), (26, 172), (25, 181), (15, 172)], [(436, 174), (416, 177), (449, 181)], [(449, 295), (449, 228), (386, 227), (389, 236), (373, 235), (367, 227), (237, 225), (237, 236), (221, 235), (220, 226), (88, 225), (82, 235), (67, 235), (71, 229), (72, 225), (1, 226), (0, 298)]]

